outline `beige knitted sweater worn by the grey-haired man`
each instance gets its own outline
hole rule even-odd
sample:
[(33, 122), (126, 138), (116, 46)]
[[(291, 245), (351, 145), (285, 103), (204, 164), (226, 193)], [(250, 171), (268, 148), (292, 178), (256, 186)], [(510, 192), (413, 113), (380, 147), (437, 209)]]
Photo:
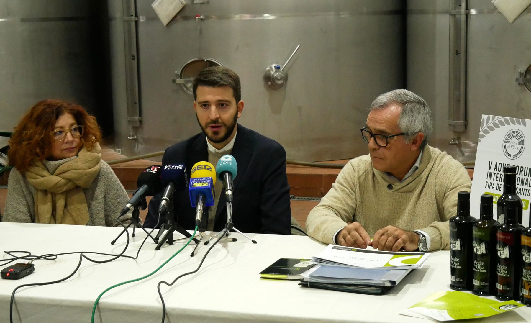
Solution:
[[(392, 186), (390, 186), (391, 184)], [(425, 146), (421, 164), (403, 183), (372, 167), (369, 155), (354, 158), (306, 219), (308, 234), (324, 243), (347, 222), (359, 222), (372, 237), (388, 225), (430, 236), (430, 251), (449, 248), (449, 222), (457, 192), (470, 191), (470, 178), (446, 152)]]

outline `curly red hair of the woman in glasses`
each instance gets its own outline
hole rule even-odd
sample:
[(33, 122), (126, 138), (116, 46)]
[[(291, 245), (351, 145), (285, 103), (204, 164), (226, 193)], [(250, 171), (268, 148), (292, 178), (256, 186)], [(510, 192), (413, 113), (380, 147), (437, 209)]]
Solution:
[(33, 160), (48, 158), (55, 142), (52, 137), (55, 122), (65, 113), (70, 113), (78, 125), (84, 125), (81, 144), (92, 150), (101, 140), (96, 118), (79, 105), (63, 100), (42, 100), (32, 106), (15, 126), (7, 151), (9, 164), (19, 172), (25, 172)]

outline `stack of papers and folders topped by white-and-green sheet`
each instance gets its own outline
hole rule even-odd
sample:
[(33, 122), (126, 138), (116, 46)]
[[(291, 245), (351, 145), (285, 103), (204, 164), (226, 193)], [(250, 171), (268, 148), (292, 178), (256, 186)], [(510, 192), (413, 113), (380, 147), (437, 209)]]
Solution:
[(429, 253), (391, 252), (328, 245), (312, 257), (319, 266), (302, 274), (305, 287), (350, 293), (383, 294), (415, 268), (421, 268)]

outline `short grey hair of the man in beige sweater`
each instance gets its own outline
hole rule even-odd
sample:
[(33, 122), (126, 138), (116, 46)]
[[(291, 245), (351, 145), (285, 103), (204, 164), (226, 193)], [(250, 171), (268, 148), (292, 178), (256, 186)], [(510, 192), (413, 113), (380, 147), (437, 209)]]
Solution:
[(404, 132), (404, 140), (409, 143), (419, 132), (424, 134), (420, 148), (426, 146), (433, 131), (433, 122), (430, 107), (426, 101), (405, 89), (392, 90), (384, 93), (371, 104), (371, 111), (383, 109), (391, 104), (401, 105), (400, 116), (398, 117), (398, 128)]

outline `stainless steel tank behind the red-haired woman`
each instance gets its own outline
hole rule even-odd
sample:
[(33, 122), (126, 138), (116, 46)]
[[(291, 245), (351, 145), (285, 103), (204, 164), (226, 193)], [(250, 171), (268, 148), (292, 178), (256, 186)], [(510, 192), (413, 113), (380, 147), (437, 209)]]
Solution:
[(107, 16), (106, 5), (91, 0), (0, 0), (0, 131), (13, 131), (33, 104), (49, 98), (75, 101), (112, 128), (102, 52), (108, 27), (100, 13)]

